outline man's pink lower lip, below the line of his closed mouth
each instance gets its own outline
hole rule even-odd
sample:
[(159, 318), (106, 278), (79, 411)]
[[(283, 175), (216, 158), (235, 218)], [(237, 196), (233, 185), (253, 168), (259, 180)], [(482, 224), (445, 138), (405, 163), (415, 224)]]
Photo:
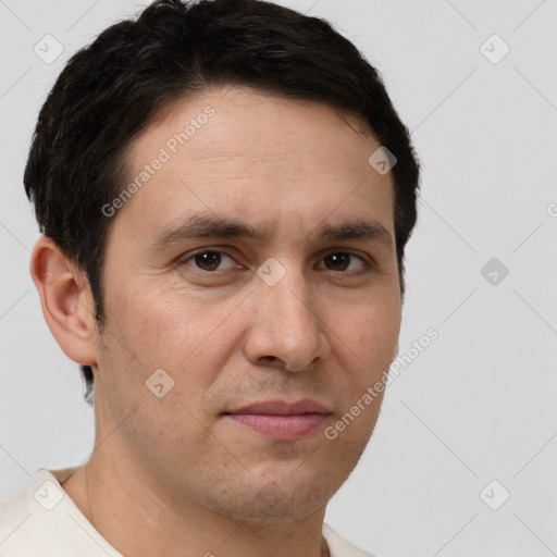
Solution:
[(325, 413), (300, 413), (278, 416), (270, 413), (231, 413), (226, 414), (235, 422), (281, 441), (295, 441), (313, 433), (329, 418)]

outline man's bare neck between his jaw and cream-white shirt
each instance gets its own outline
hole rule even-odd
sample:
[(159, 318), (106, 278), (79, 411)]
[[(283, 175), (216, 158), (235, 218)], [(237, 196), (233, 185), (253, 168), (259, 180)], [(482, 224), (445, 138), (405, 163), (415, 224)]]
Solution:
[[(113, 449), (114, 447), (111, 447)], [(123, 555), (144, 557), (329, 557), (324, 508), (302, 519), (226, 516), (169, 491), (124, 455), (94, 450), (62, 485), (96, 530)]]

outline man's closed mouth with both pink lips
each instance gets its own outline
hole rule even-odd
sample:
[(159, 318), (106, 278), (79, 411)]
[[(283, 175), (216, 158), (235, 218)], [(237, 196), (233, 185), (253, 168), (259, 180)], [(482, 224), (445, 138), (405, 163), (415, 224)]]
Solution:
[(324, 406), (311, 399), (296, 403), (268, 400), (253, 403), (223, 417), (232, 423), (278, 441), (296, 441), (318, 431), (332, 414)]

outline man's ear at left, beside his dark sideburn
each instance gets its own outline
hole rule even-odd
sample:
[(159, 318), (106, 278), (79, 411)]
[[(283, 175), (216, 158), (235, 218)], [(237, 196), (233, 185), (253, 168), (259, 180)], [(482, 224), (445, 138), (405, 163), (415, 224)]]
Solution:
[(46, 236), (33, 248), (29, 271), (45, 320), (64, 354), (77, 363), (95, 366), (95, 306), (86, 273)]

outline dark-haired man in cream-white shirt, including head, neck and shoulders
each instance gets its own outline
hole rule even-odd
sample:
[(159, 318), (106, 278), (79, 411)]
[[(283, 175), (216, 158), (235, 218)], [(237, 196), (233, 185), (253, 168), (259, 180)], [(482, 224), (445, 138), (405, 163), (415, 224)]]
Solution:
[(323, 520), (396, 356), (418, 177), (323, 21), (162, 0), (75, 54), (24, 183), (95, 447), (0, 506), (0, 555), (370, 555)]

